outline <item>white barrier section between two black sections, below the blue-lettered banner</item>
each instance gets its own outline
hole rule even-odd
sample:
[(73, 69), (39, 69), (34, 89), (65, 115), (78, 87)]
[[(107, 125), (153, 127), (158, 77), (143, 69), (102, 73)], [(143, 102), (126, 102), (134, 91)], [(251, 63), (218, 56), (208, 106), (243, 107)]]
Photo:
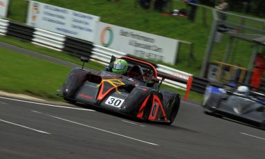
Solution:
[(64, 48), (64, 41), (66, 36), (57, 34), (55, 32), (46, 31), (43, 29), (35, 28), (33, 35), (33, 44), (52, 48), (61, 51)]

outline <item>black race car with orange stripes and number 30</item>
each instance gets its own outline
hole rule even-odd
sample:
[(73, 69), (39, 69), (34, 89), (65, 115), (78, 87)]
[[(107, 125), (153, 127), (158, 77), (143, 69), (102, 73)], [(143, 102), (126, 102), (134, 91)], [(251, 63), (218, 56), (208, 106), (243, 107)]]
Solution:
[[(111, 62), (115, 59), (112, 57)], [(160, 89), (160, 86), (165, 78), (176, 80), (176, 77), (159, 73), (162, 79), (158, 79), (156, 64), (135, 57), (120, 59), (128, 62), (126, 75), (73, 68), (60, 89), (64, 100), (172, 124), (179, 111), (181, 96), (174, 91)], [(81, 60), (88, 62), (83, 57)]]

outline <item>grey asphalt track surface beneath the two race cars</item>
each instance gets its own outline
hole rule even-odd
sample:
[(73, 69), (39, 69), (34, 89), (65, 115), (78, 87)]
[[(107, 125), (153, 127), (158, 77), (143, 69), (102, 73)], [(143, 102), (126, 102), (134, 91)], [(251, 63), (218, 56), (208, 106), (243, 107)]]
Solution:
[(0, 97), (1, 159), (264, 159), (264, 132), (205, 115), (199, 104), (185, 101), (172, 126), (165, 126), (84, 105), (55, 106)]

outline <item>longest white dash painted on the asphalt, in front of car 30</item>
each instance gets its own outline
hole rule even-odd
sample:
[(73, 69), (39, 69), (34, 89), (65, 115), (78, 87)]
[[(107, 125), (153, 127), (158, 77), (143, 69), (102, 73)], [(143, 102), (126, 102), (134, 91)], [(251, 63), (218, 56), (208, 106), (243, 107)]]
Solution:
[(92, 127), (92, 126), (89, 126), (89, 125), (86, 125), (86, 124), (81, 124), (81, 123), (79, 123), (79, 122), (73, 122), (73, 121), (71, 121), (71, 120), (66, 120), (66, 119), (64, 119), (64, 118), (59, 118), (59, 117), (56, 117), (56, 116), (53, 116), (53, 115), (48, 115), (48, 114), (46, 114), (46, 113), (42, 113), (42, 112), (39, 112), (39, 111), (33, 111), (33, 112), (35, 112), (35, 113), (40, 113), (40, 114), (43, 114), (43, 115), (46, 115), (46, 116), (49, 116), (49, 117), (52, 117), (52, 118), (56, 118), (56, 119), (59, 119), (59, 120), (64, 120), (64, 121), (66, 121), (66, 122), (71, 122), (71, 123), (74, 123), (74, 124), (82, 125), (82, 126), (84, 126), (84, 127), (89, 127), (89, 128), (91, 128), (91, 129), (96, 129), (96, 130), (98, 130), (98, 131), (103, 131), (103, 132), (106, 132), (106, 133), (111, 133), (111, 134), (113, 134), (113, 135), (118, 135), (118, 136), (121, 136), (121, 137), (123, 137), (123, 138), (129, 138), (129, 139), (131, 139), (131, 140), (136, 140), (136, 141), (138, 141), (138, 142), (143, 142), (143, 143), (146, 143), (146, 144), (152, 144), (152, 145), (155, 145), (155, 146), (159, 146), (158, 144), (154, 144), (154, 143), (152, 143), (152, 142), (147, 142), (147, 141), (144, 141), (144, 140), (139, 140), (139, 139), (136, 139), (136, 138), (131, 138), (131, 137), (127, 136), (127, 135), (122, 135), (122, 134), (119, 134), (119, 133), (113, 133), (113, 132), (111, 132), (111, 131), (107, 131), (107, 130), (104, 130), (104, 129), (100, 129), (100, 128), (97, 128), (97, 127)]

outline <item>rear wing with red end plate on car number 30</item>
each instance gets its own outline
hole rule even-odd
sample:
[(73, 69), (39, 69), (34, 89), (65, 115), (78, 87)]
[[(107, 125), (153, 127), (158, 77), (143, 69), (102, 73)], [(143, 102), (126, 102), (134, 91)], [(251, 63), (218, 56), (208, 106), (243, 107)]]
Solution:
[[(168, 86), (173, 86), (175, 88), (180, 87), (186, 89), (184, 100), (188, 100), (190, 88), (192, 88), (192, 80), (193, 80), (192, 75), (180, 77), (179, 75), (174, 75), (174, 74), (169, 75), (167, 73), (162, 73), (161, 71), (158, 71), (158, 79), (159, 78), (161, 80), (161, 84), (162, 82), (164, 82), (164, 84), (167, 84)], [(161, 84), (159, 84), (159, 86)]]

